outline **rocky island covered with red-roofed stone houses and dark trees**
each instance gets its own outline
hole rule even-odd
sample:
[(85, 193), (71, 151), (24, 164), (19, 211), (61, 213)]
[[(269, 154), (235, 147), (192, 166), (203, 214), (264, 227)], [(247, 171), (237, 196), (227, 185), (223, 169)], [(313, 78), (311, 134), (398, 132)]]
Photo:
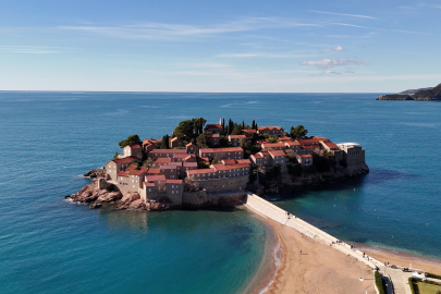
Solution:
[(279, 193), (369, 172), (358, 144), (307, 136), (303, 125), (286, 132), (255, 121), (206, 122), (182, 121), (162, 138), (128, 136), (119, 143), (121, 154), (85, 174), (95, 179), (91, 184), (65, 197), (90, 208), (111, 204), (128, 210), (235, 206), (247, 192)]

